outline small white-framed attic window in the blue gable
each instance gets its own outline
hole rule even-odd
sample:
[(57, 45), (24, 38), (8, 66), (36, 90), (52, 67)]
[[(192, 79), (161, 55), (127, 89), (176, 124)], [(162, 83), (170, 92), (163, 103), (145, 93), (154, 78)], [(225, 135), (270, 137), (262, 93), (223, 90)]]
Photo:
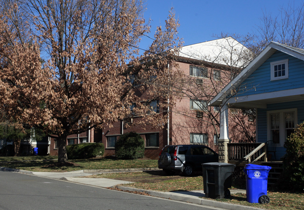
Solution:
[(288, 78), (288, 59), (270, 63), (270, 80)]

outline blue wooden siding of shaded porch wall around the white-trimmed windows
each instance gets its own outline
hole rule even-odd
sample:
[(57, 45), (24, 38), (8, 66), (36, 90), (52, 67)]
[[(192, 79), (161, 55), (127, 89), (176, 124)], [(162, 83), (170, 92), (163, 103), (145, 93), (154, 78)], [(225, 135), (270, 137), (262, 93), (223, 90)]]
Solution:
[[(257, 110), (257, 142), (266, 142), (267, 141), (267, 111), (271, 110), (284, 110), (297, 108), (297, 124), (300, 124), (304, 121), (304, 100), (301, 101), (292, 101), (285, 103), (273, 103), (268, 104), (266, 109)], [(281, 158), (285, 154), (284, 147), (277, 147), (276, 157), (277, 159)]]

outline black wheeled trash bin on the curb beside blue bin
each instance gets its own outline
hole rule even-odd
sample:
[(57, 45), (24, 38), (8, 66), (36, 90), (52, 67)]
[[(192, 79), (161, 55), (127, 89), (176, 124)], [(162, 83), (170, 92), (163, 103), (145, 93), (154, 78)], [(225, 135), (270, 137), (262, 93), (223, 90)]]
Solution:
[(203, 163), (203, 182), (206, 198), (229, 198), (235, 165), (229, 163)]

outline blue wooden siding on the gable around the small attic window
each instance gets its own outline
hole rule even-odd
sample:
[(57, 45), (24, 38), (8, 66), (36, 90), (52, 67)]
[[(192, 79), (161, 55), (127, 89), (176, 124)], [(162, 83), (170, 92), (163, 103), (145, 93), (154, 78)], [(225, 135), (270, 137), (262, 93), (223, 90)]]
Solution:
[[(270, 81), (270, 62), (288, 59), (288, 79)], [(240, 86), (239, 96), (304, 87), (304, 61), (276, 51)]]

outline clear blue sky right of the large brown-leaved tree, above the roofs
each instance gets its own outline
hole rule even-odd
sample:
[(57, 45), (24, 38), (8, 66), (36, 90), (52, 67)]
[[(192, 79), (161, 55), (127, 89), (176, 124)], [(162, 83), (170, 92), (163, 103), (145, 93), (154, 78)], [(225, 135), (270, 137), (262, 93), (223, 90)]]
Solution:
[[(181, 26), (179, 37), (184, 45), (196, 44), (215, 39), (213, 34), (239, 33), (246, 35), (256, 30), (263, 12), (277, 16), (281, 7), (287, 7), (287, 0), (147, 0), (144, 18), (151, 22), (150, 37), (156, 27), (164, 26), (170, 8), (173, 6)], [(302, 0), (291, 1), (295, 7), (303, 4)], [(145, 38), (140, 48), (147, 49), (152, 40)]]

